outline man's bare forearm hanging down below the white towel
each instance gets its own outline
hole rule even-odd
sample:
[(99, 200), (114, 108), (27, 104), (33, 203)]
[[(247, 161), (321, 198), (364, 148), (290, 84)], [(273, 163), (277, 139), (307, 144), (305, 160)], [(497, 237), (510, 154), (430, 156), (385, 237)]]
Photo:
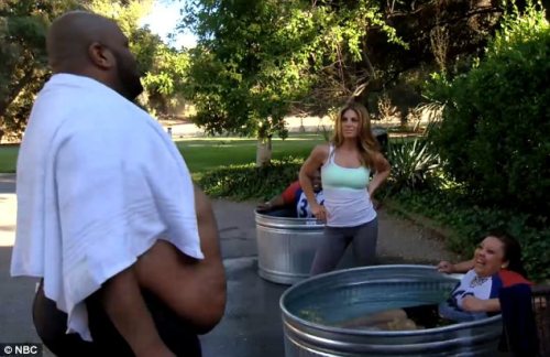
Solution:
[(99, 291), (107, 315), (135, 356), (175, 356), (163, 343), (130, 267), (103, 283)]

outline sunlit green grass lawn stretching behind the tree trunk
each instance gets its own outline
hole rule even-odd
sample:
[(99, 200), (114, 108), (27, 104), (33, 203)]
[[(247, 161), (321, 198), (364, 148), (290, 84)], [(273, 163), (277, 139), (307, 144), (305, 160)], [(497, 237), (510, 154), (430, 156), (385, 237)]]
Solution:
[[(273, 159), (284, 156), (306, 158), (311, 149), (323, 142), (321, 134), (293, 134), (286, 140), (273, 140)], [(193, 138), (176, 141), (189, 171), (197, 178), (206, 171), (230, 164), (244, 164), (256, 161), (255, 139), (246, 138)], [(0, 147), (0, 172), (15, 172), (19, 148)]]

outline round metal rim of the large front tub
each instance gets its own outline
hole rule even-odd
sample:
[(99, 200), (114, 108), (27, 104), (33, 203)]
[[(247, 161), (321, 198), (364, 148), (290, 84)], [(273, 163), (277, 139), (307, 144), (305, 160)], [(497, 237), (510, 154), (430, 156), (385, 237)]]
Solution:
[[(361, 267), (361, 268), (350, 268), (350, 269), (343, 269), (343, 270), (338, 270), (338, 271), (332, 271), (329, 273), (320, 274), (314, 278), (306, 279), (304, 281), (300, 281), (293, 286), (288, 288), (283, 295), (280, 295), (279, 299), (279, 309), (283, 312), (284, 318), (288, 320), (284, 321), (284, 324), (299, 324), (304, 325), (308, 328), (319, 331), (322, 333), (338, 333), (341, 335), (349, 335), (349, 336), (373, 336), (373, 337), (392, 337), (392, 336), (421, 336), (421, 335), (432, 335), (435, 332), (447, 332), (447, 331), (454, 331), (459, 328), (472, 328), (472, 327), (477, 327), (482, 326), (485, 324), (492, 324), (502, 318), (501, 314), (497, 314), (495, 316), (491, 316), (483, 320), (477, 320), (477, 321), (470, 321), (470, 322), (462, 322), (462, 323), (455, 323), (449, 326), (442, 326), (442, 327), (433, 327), (433, 328), (424, 328), (424, 329), (414, 329), (414, 331), (365, 331), (365, 329), (358, 329), (358, 328), (343, 328), (343, 327), (336, 327), (336, 326), (327, 326), (318, 323), (314, 323), (304, 318), (300, 318), (296, 316), (295, 314), (290, 313), (286, 306), (285, 306), (285, 300), (289, 294), (292, 294), (295, 290), (300, 289), (302, 285), (311, 284), (316, 280), (320, 279), (326, 279), (327, 277), (331, 275), (338, 275), (338, 274), (345, 274), (352, 271), (361, 271), (361, 270), (382, 270), (382, 269), (406, 269), (406, 268), (414, 268), (414, 269), (427, 269), (427, 270), (435, 270), (433, 266), (421, 266), (421, 264), (387, 264), (387, 266), (375, 266), (375, 267)], [(457, 274), (451, 274), (450, 277), (457, 277)], [(457, 279), (457, 278), (454, 278)], [(386, 280), (387, 281), (387, 280)], [(308, 335), (305, 332), (300, 332), (301, 335)]]

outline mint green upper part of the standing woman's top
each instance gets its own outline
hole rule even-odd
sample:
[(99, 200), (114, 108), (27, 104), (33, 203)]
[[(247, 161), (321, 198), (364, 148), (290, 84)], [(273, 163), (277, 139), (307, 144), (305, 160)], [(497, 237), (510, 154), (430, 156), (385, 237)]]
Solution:
[(321, 167), (322, 187), (364, 190), (369, 185), (371, 171), (364, 166), (342, 167), (334, 162), (334, 147), (330, 145), (329, 159)]

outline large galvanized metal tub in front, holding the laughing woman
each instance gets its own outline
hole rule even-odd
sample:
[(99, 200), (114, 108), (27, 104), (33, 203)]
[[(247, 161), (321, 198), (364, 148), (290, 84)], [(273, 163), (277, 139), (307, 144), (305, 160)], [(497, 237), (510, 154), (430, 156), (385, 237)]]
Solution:
[(332, 322), (443, 301), (459, 277), (427, 266), (354, 268), (305, 280), (280, 298), (285, 356), (494, 356), (501, 315), (416, 331), (364, 331)]

